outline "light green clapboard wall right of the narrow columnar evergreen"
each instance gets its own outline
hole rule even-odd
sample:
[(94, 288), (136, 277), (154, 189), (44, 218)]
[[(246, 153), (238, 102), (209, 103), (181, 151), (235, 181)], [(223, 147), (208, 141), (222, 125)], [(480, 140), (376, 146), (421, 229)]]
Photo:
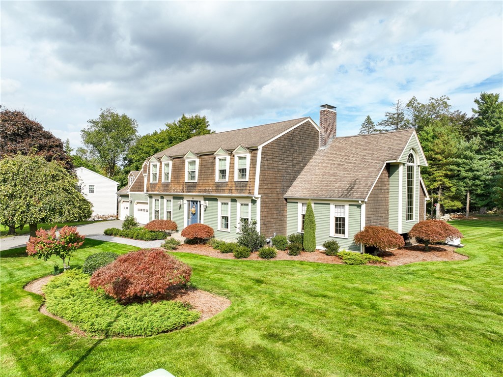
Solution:
[(355, 244), (353, 238), (360, 232), (361, 207), (360, 204), (349, 205), (349, 237), (330, 237), (330, 204), (314, 202), (314, 218), (316, 220), (316, 247), (320, 248), (325, 241), (335, 240), (341, 249), (360, 251), (360, 245)]

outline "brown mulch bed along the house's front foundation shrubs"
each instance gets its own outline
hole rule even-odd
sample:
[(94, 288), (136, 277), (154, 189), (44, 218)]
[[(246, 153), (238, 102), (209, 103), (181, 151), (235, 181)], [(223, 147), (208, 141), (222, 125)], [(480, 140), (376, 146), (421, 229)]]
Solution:
[[(402, 249), (395, 249), (380, 253), (379, 256), (384, 258), (388, 263), (370, 263), (378, 266), (401, 266), (404, 264), (415, 262), (431, 262), (431, 261), (457, 261), (468, 259), (467, 256), (456, 253), (454, 246), (436, 245), (430, 246), (430, 252), (424, 251), (423, 245), (414, 245)], [(207, 257), (220, 259), (235, 259), (232, 253), (222, 254), (218, 250), (214, 250), (208, 245), (180, 245), (175, 252), (192, 253), (204, 255)], [(316, 263), (332, 263), (343, 264), (343, 261), (336, 256), (325, 255), (321, 250), (316, 250), (312, 253), (303, 251), (300, 255), (291, 256), (286, 251), (278, 250), (278, 256), (272, 260), (280, 261), (303, 261)], [(264, 260), (259, 258), (258, 253), (251, 253), (249, 258), (245, 260)]]

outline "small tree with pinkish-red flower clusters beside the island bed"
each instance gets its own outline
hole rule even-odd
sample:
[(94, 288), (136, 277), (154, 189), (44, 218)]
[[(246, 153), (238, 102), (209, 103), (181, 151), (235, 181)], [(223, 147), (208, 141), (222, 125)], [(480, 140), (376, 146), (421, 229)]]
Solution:
[(36, 237), (31, 237), (26, 243), (26, 252), (28, 255), (48, 260), (51, 256), (56, 255), (63, 261), (63, 269), (70, 268), (70, 257), (84, 243), (86, 236), (82, 236), (77, 232), (76, 227), (68, 227), (65, 225), (59, 231), (59, 236), (56, 234), (56, 227), (48, 231), (39, 229)]

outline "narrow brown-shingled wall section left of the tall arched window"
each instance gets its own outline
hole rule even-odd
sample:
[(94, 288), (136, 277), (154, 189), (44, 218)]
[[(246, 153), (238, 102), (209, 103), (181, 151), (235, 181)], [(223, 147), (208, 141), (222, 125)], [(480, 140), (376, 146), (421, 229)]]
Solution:
[(389, 164), (386, 164), (365, 205), (365, 225), (389, 227)]

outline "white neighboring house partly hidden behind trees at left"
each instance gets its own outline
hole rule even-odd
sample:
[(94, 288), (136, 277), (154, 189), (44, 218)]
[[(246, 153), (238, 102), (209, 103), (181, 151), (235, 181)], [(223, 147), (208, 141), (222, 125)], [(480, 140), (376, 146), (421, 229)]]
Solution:
[(117, 215), (118, 182), (84, 167), (76, 168), (80, 191), (93, 203), (93, 216)]

